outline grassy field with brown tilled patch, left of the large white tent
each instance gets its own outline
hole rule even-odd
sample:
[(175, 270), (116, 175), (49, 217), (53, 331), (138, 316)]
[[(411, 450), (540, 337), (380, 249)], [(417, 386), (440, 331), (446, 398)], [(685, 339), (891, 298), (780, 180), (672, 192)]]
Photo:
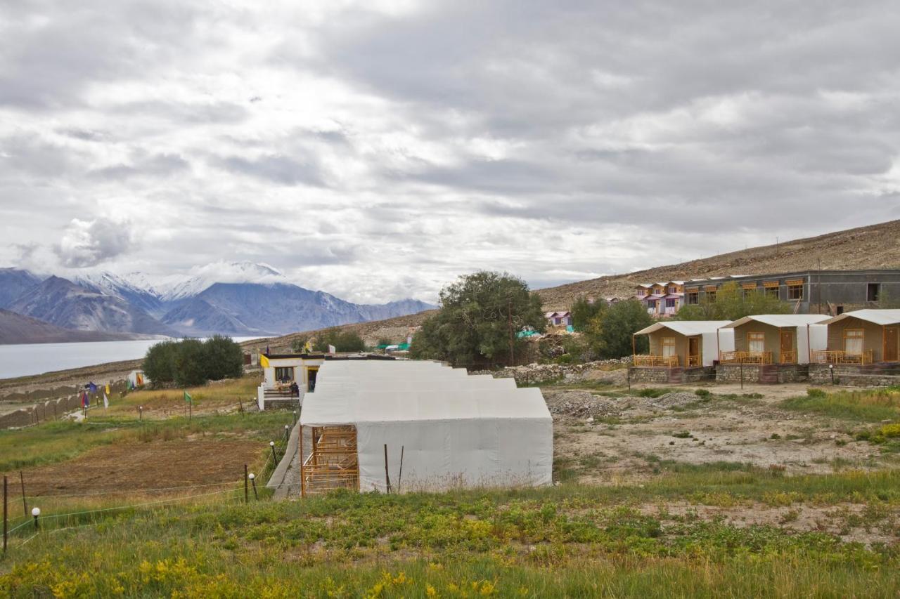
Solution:
[(81, 506), (85, 496), (90, 505), (105, 496), (133, 502), (158, 498), (157, 488), (227, 485), (243, 478), (245, 463), (265, 480), (273, 468), (269, 441), (282, 451), (293, 415), (240, 411), (241, 401), (251, 407), (256, 386), (245, 378), (188, 389), (190, 419), (182, 389), (141, 390), (111, 398), (109, 409), (94, 407), (83, 420), (0, 431), (0, 471), (13, 475), (14, 501), (23, 470), (29, 503), (53, 509)]

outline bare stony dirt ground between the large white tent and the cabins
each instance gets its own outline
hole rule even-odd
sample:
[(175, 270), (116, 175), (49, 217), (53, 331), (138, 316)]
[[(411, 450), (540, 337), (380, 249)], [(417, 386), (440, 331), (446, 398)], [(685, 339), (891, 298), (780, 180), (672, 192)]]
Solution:
[(672, 463), (750, 463), (787, 474), (883, 466), (877, 448), (849, 434), (852, 423), (779, 408), (781, 399), (799, 394), (793, 387), (763, 387), (762, 398), (723, 398), (725, 386), (708, 398), (684, 388), (660, 398), (545, 389), (555, 461), (595, 484), (645, 480)]

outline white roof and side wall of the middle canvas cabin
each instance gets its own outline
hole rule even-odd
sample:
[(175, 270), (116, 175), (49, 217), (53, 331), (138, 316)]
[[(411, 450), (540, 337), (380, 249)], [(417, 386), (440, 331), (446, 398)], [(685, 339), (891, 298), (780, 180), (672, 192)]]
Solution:
[(825, 320), (828, 320), (828, 317), (822, 314), (757, 314), (739, 318), (733, 323), (725, 325), (724, 328), (735, 331), (735, 349), (744, 351), (749, 349), (746, 342), (746, 331), (759, 328), (754, 328), (757, 323), (778, 329), (774, 331), (774, 335), (764, 336), (766, 351), (779, 352), (783, 341), (779, 338), (779, 332), (789, 333), (793, 337), (789, 339), (789, 348), (796, 359), (779, 360), (778, 362), (807, 364), (812, 362), (812, 357), (816, 352), (828, 348), (828, 326), (823, 324)]

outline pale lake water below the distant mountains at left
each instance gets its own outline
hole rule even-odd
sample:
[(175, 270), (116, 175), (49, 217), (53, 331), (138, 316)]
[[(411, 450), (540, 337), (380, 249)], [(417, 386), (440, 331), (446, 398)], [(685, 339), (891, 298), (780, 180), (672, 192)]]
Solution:
[[(257, 337), (232, 337), (238, 343)], [(92, 341), (74, 344), (0, 345), (0, 379), (49, 371), (93, 366), (104, 362), (137, 360), (161, 339)]]

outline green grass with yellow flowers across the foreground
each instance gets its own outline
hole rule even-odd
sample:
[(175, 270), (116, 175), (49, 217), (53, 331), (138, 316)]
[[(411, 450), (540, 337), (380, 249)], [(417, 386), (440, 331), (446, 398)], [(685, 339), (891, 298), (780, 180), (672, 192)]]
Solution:
[[(892, 487), (896, 493), (896, 476), (885, 476), (769, 482), (784, 494), (802, 495), (810, 485)], [(777, 526), (661, 520), (609, 503), (622, 498), (616, 488), (577, 486), (443, 495), (338, 493), (250, 505), (230, 496), (218, 504), (95, 515), (80, 522), (92, 525), (69, 530), (54, 530), (63, 524), (48, 520), (44, 532), (24, 546), (23, 536), (14, 536), (10, 554), (0, 561), (0, 595), (900, 593), (896, 547), (866, 549), (821, 532), (787, 533)]]

